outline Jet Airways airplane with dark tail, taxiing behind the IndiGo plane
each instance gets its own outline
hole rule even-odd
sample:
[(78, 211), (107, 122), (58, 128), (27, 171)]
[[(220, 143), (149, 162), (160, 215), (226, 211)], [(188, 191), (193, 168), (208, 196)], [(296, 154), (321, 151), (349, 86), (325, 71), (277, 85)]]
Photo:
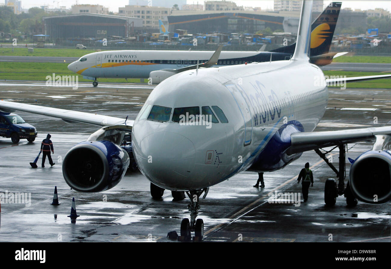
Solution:
[[(332, 2), (312, 23), (310, 46), (312, 63), (330, 64), (334, 57), (347, 53), (329, 53), (340, 9), (341, 2)], [(165, 31), (162, 23), (160, 28), (161, 31)], [(93, 86), (98, 85), (97, 78), (151, 78), (152, 84), (159, 84), (176, 73), (195, 69), (198, 60), (201, 62), (200, 67), (287, 60), (292, 57), (295, 46), (296, 43), (270, 52), (224, 51), (217, 55), (215, 61), (209, 61), (208, 65), (203, 64), (211, 58), (212, 51), (113, 50), (93, 52), (69, 64), (68, 69), (83, 75), (84, 78), (94, 80)]]

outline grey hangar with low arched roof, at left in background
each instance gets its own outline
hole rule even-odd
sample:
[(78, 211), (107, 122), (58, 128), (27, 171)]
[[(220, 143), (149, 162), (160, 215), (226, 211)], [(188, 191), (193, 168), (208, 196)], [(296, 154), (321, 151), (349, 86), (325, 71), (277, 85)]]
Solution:
[(142, 28), (142, 19), (101, 14), (72, 14), (43, 17), (50, 40), (67, 38), (128, 37)]

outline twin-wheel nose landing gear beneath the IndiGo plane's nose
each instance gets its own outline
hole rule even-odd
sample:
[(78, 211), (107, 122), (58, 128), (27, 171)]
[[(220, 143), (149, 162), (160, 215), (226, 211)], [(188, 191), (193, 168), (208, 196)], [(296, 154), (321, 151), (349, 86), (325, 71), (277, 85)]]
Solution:
[(208, 194), (209, 188), (205, 188), (202, 190), (190, 190), (186, 191), (187, 196), (190, 198), (190, 203), (188, 205), (188, 210), (190, 211), (190, 221), (188, 218), (182, 219), (181, 222), (181, 236), (179, 240), (188, 241), (192, 238), (191, 233), (194, 232), (193, 241), (200, 242), (204, 237), (204, 221), (202, 219), (195, 218), (198, 215), (199, 206), (199, 198), (201, 194), (204, 192), (204, 196), (202, 199), (205, 199)]

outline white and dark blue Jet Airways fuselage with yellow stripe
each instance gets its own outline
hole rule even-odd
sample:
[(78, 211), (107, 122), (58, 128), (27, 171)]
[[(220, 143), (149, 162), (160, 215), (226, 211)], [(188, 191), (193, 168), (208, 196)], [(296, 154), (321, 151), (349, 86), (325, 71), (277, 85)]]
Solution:
[[(71, 71), (95, 78), (148, 78), (152, 71), (178, 69), (206, 62), (213, 51), (113, 50), (93, 52), (68, 65)], [(270, 52), (223, 51), (217, 65), (269, 61)], [(286, 58), (285, 58), (286, 57)], [(273, 53), (273, 60), (289, 59), (287, 53)]]

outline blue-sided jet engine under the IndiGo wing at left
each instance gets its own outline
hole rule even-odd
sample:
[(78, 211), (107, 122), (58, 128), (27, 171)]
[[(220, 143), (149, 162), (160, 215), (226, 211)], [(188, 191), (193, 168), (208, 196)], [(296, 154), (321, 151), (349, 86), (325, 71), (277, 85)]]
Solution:
[(117, 185), (129, 166), (129, 155), (117, 144), (84, 141), (71, 148), (63, 160), (66, 183), (80, 192), (100, 192)]

